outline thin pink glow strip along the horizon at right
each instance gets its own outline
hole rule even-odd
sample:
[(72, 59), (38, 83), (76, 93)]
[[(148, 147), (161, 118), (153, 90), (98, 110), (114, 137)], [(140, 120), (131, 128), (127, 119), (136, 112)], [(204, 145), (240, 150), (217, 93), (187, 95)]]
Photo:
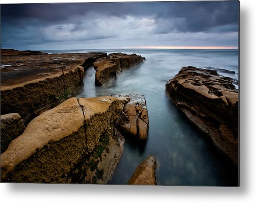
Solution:
[(142, 46), (126, 47), (130, 49), (238, 49), (238, 47), (175, 47), (175, 46)]

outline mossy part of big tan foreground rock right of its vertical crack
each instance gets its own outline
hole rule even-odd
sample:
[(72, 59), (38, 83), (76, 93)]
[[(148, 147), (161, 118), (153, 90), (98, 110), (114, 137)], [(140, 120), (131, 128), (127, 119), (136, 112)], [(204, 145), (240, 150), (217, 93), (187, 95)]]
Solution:
[(79, 98), (78, 101), (85, 116), (88, 153), (74, 169), (73, 177), (78, 178), (72, 178), (71, 182), (105, 184), (123, 153), (124, 138), (115, 122), (129, 98), (105, 96)]

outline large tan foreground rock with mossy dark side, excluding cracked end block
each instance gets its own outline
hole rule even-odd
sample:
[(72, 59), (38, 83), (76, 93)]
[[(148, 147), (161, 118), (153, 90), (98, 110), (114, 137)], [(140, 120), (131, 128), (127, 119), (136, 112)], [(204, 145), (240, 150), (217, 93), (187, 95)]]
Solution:
[(73, 97), (41, 113), (1, 155), (1, 181), (106, 183), (123, 151), (114, 123), (128, 101)]

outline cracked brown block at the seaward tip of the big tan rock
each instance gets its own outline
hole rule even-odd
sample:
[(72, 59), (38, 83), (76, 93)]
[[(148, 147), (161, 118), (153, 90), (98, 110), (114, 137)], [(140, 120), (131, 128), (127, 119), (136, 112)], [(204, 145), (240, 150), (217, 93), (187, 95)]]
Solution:
[(145, 140), (149, 130), (145, 97), (142, 94), (130, 94), (126, 97), (129, 97), (130, 101), (125, 105), (122, 115), (117, 120), (117, 127), (126, 135)]

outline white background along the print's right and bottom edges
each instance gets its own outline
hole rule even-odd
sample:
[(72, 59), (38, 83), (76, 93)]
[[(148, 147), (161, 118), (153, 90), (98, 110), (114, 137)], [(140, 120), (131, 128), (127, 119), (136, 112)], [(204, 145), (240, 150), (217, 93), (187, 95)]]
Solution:
[[(85, 1), (36, 1), (85, 2)], [(104, 2), (104, 1), (93, 1)], [(112, 2), (116, 2), (112, 0)], [(128, 1), (126, 1), (128, 2)], [(240, 1), (240, 187), (0, 183), (1, 202), (255, 202), (255, 1)], [(1, 1), (35, 3), (35, 1)]]

